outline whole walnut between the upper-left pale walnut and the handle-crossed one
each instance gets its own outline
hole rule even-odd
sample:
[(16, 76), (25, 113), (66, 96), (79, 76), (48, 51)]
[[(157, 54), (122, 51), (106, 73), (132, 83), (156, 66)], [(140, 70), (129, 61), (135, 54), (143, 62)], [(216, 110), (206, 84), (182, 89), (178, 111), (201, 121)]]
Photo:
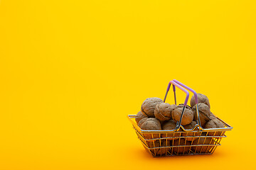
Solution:
[(154, 110), (155, 117), (160, 121), (171, 119), (173, 107), (169, 103), (159, 103)]

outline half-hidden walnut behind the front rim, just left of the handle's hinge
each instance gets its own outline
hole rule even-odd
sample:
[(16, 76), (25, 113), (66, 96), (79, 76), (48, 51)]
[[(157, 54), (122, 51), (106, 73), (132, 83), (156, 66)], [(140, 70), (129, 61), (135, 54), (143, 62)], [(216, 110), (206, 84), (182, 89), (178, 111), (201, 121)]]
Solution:
[[(174, 130), (176, 128), (176, 122), (174, 120), (169, 120), (163, 123), (162, 130)], [(181, 129), (179, 131), (182, 131)], [(180, 137), (181, 133), (177, 132), (168, 132), (168, 133), (162, 133), (161, 137), (170, 137), (167, 140), (176, 140), (176, 138), (173, 137)]]

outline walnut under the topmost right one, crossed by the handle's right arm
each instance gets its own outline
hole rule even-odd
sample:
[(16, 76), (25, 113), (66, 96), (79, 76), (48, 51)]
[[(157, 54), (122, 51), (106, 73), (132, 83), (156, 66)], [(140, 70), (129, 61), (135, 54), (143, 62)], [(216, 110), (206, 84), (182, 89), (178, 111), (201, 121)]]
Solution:
[[(193, 120), (197, 120), (196, 105), (193, 106), (192, 111), (193, 111)], [(198, 113), (199, 113), (199, 118), (200, 118), (202, 127), (206, 125), (206, 123), (210, 120), (210, 115), (213, 114), (210, 112), (209, 106), (207, 106), (205, 103), (198, 103)]]

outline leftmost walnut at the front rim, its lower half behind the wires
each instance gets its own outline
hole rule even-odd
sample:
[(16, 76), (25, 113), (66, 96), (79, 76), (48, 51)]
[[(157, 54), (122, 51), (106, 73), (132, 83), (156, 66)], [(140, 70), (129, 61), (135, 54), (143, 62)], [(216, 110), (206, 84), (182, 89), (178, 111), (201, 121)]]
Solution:
[[(142, 130), (161, 130), (161, 123), (156, 118), (148, 118), (141, 126)], [(159, 133), (144, 133), (144, 137), (147, 140), (151, 140), (154, 138), (160, 138), (161, 134)]]

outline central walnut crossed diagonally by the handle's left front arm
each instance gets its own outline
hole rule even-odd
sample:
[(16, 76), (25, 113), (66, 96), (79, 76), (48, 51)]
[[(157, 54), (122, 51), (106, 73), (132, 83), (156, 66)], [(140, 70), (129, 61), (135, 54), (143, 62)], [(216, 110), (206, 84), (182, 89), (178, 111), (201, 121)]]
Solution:
[[(181, 118), (181, 113), (183, 111), (183, 108), (176, 108), (174, 111), (171, 112), (172, 118), (177, 122)], [(191, 108), (185, 108), (183, 118), (181, 120), (181, 125), (188, 125), (193, 121), (193, 111), (191, 111)]]

